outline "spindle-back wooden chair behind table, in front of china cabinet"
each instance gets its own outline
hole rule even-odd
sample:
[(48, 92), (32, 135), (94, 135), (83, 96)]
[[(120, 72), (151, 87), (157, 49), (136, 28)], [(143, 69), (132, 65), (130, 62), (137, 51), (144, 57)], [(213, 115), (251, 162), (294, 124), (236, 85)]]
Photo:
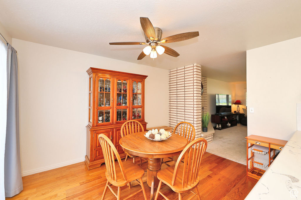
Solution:
[[(129, 121), (124, 122), (124, 124), (121, 127), (120, 133), (121, 133), (121, 137), (124, 137), (126, 135), (129, 135), (129, 134), (132, 134), (132, 133), (141, 132), (141, 131), (144, 131), (144, 128), (143, 128), (142, 124), (139, 121), (129, 120)], [(135, 158), (137, 158), (138, 156), (134, 156), (132, 154), (126, 153), (126, 159), (125, 159), (125, 161), (128, 159), (128, 157), (133, 158), (133, 163), (135, 163)], [(139, 158), (140, 158), (139, 165), (141, 165), (143, 163), (141, 161), (141, 157), (139, 157)]]

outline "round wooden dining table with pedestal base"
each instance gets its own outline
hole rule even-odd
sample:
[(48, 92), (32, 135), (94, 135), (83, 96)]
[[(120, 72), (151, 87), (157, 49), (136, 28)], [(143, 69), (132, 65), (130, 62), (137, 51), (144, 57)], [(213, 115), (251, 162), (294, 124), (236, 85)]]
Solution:
[(151, 200), (154, 198), (154, 188), (158, 186), (157, 172), (161, 169), (161, 158), (181, 154), (189, 141), (180, 135), (172, 134), (168, 139), (154, 141), (144, 136), (144, 132), (131, 133), (119, 140), (126, 153), (147, 157), (147, 185), (151, 187)]

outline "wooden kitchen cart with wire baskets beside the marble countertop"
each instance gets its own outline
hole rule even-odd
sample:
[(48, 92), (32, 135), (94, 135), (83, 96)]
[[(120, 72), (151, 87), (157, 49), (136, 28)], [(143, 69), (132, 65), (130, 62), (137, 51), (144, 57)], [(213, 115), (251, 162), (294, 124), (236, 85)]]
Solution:
[[(256, 135), (247, 136), (246, 139), (247, 139), (247, 176), (259, 180), (263, 175), (263, 173), (265, 172), (265, 170), (254, 167), (254, 164), (264, 166), (264, 167), (269, 167), (273, 162), (273, 158), (275, 157), (275, 150), (281, 151), (284, 145), (287, 143), (287, 141), (263, 137), (263, 136), (256, 136)], [(267, 154), (269, 156), (269, 159), (266, 164), (254, 160), (255, 154), (262, 153), (263, 152), (262, 150), (255, 149), (254, 151), (255, 153), (251, 151), (251, 155), (249, 157), (249, 149), (252, 148), (254, 145), (259, 145), (268, 148)]]

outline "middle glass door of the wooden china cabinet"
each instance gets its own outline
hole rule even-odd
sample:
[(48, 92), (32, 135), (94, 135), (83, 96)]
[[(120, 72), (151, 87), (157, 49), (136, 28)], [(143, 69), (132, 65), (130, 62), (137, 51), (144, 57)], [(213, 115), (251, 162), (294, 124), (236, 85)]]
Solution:
[(116, 92), (115, 92), (115, 112), (116, 122), (128, 120), (128, 79), (116, 78)]

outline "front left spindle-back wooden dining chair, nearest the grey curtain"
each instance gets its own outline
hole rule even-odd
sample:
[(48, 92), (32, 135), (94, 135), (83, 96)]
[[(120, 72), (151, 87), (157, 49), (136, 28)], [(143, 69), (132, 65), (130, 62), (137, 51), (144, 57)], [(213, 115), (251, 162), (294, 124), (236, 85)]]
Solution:
[[(137, 194), (138, 192), (142, 191), (144, 199), (146, 200), (146, 193), (142, 182), (142, 176), (144, 175), (144, 170), (129, 160), (122, 162), (115, 146), (113, 145), (111, 140), (104, 134), (99, 134), (98, 140), (101, 144), (101, 149), (104, 154), (104, 162), (107, 168), (106, 170), (107, 183), (106, 186), (104, 187), (104, 193), (102, 195), (101, 200), (104, 199), (104, 196), (107, 192), (107, 188), (109, 188), (113, 193), (113, 195), (115, 195), (116, 198), (119, 200), (120, 187), (130, 183), (131, 181), (137, 181), (138, 184), (141, 186), (141, 190), (138, 190), (137, 192), (127, 196), (125, 199), (129, 199), (135, 194)], [(115, 161), (115, 158), (117, 161)], [(109, 183), (118, 187), (117, 195), (114, 192), (114, 190), (111, 188)]]

